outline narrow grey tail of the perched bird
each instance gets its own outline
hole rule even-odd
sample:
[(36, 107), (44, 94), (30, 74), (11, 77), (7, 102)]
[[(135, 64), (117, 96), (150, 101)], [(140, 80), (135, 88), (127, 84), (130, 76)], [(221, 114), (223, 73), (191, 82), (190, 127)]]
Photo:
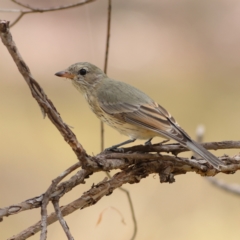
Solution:
[(212, 153), (207, 151), (202, 145), (194, 142), (193, 140), (188, 140), (186, 142), (186, 147), (207, 160), (214, 168), (218, 170), (221, 170), (221, 166), (225, 166), (221, 160), (219, 160)]

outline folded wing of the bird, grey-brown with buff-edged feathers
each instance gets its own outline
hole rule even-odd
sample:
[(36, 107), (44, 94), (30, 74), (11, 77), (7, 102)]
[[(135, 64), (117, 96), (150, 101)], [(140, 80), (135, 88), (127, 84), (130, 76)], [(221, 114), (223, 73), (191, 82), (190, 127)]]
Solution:
[(183, 145), (190, 139), (187, 133), (177, 124), (175, 119), (159, 104), (130, 104), (123, 102), (99, 102), (101, 109), (127, 123), (159, 133), (166, 138), (172, 138)]

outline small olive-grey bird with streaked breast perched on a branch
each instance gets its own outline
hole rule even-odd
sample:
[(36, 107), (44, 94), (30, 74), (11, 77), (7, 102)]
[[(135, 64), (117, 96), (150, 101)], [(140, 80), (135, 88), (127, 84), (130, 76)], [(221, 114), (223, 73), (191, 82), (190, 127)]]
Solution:
[(118, 149), (136, 139), (145, 139), (145, 144), (151, 145), (152, 138), (162, 137), (175, 140), (200, 155), (217, 170), (225, 166), (211, 152), (192, 140), (165, 108), (137, 88), (109, 78), (97, 66), (78, 62), (55, 75), (70, 79), (101, 121), (130, 138), (107, 150)]

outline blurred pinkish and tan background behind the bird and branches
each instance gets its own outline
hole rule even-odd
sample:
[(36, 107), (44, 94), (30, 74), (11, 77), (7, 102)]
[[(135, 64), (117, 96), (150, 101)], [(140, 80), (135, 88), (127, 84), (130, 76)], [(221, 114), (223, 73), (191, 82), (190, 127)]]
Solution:
[[(70, 1), (22, 2), (48, 8)], [(204, 141), (239, 140), (240, 1), (113, 0), (112, 5), (108, 76), (149, 94), (193, 138), (198, 124), (204, 124)], [(20, 7), (1, 0), (0, 9), (15, 8)], [(0, 12), (2, 20), (13, 21), (17, 16)], [(26, 15), (11, 29), (34, 78), (89, 154), (100, 151), (99, 120), (72, 84), (54, 73), (82, 61), (103, 68), (106, 25), (107, 0), (98, 0), (69, 10)], [(0, 112), (0, 207), (6, 207), (43, 193), (77, 159), (53, 124), (43, 119), (2, 43)], [(105, 126), (106, 147), (126, 139)], [(234, 155), (238, 150), (214, 152), (224, 153)], [(79, 198), (104, 177), (104, 173), (94, 174), (64, 196), (61, 205)], [(240, 182), (239, 173), (217, 178)], [(158, 176), (152, 175), (124, 187), (131, 192), (135, 208), (136, 239), (239, 239), (240, 198), (199, 175), (177, 176), (171, 185), (160, 184)], [(130, 239), (129, 209), (126, 196), (116, 190), (66, 220), (75, 239)], [(11, 237), (39, 219), (40, 209), (4, 218), (0, 238)], [(39, 239), (39, 234), (31, 239)], [(48, 228), (48, 239), (66, 239), (59, 223)]]

